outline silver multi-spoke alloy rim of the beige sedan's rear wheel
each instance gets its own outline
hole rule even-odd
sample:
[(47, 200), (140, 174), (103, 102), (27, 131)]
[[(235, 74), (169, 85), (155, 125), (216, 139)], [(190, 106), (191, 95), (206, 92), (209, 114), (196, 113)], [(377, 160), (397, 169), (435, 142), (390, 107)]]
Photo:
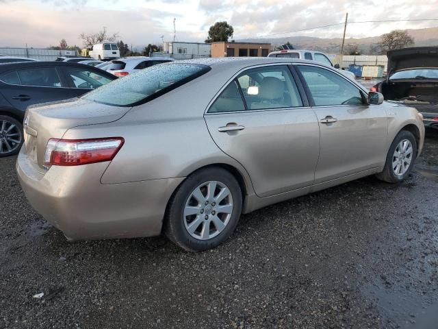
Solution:
[(194, 239), (212, 239), (227, 227), (232, 212), (229, 188), (222, 182), (205, 182), (192, 191), (185, 203), (184, 226)]

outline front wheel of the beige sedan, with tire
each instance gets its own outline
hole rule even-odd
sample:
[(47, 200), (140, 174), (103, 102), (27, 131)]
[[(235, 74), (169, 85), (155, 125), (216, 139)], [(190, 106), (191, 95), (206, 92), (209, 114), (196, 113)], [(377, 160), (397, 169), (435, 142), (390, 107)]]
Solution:
[(389, 147), (385, 168), (376, 177), (389, 183), (402, 182), (411, 173), (416, 154), (415, 137), (411, 132), (402, 130)]

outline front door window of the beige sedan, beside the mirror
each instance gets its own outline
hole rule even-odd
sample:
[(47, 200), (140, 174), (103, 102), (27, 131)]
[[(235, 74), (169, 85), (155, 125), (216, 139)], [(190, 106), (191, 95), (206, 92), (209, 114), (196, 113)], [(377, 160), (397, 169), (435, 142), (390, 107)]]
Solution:
[(363, 105), (361, 90), (344, 77), (317, 66), (297, 65), (315, 106)]

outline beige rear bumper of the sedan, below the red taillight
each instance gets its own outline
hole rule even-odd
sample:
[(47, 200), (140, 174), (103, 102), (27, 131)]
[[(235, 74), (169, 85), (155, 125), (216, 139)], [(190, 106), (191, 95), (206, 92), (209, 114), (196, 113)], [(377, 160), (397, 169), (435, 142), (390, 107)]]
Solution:
[(31, 206), (70, 240), (159, 235), (168, 199), (183, 178), (101, 184), (107, 165), (51, 167), (42, 174), (22, 151), (16, 171)]

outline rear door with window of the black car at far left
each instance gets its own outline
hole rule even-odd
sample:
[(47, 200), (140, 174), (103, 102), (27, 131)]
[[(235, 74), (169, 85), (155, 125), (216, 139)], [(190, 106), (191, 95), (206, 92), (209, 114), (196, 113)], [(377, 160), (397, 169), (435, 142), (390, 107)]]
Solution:
[(66, 88), (54, 66), (39, 66), (1, 73), (0, 80), (4, 82), (1, 90), (3, 96), (12, 106), (22, 111), (36, 103), (75, 97), (70, 88)]

